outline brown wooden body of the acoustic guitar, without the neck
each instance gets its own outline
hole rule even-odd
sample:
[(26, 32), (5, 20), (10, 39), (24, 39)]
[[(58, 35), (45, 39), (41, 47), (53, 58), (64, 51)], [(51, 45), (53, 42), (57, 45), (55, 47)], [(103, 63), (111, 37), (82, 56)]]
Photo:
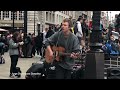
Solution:
[(49, 51), (47, 49), (45, 50), (45, 60), (46, 60), (46, 62), (47, 63), (52, 63), (53, 60), (60, 61), (61, 56), (59, 56), (59, 53), (64, 53), (65, 48), (52, 46), (51, 49), (53, 51), (53, 57), (49, 56)]

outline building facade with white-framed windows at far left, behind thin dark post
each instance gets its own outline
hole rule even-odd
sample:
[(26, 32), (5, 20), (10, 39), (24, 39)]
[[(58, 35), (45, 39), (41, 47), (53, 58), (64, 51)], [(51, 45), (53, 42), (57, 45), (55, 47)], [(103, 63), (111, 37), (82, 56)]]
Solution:
[[(14, 12), (14, 29), (23, 30), (24, 12)], [(13, 12), (12, 11), (0, 11), (0, 28), (12, 31), (13, 27)]]

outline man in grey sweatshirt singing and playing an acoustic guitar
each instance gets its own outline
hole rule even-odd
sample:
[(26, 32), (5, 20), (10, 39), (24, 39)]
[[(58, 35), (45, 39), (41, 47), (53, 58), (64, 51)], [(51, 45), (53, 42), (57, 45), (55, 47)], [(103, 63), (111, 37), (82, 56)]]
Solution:
[[(64, 53), (68, 53), (67, 55), (60, 54), (62, 58), (46, 58), (47, 63), (53, 63), (55, 65), (55, 77), (47, 79), (71, 79), (71, 70), (74, 65), (74, 59), (77, 58), (78, 53), (80, 52), (80, 43), (78, 38), (71, 33), (70, 29), (72, 27), (72, 22), (70, 19), (64, 19), (62, 22), (62, 30), (56, 32), (51, 37), (49, 37), (46, 42), (46, 57), (54, 57), (54, 51), (52, 46), (63, 47)], [(59, 51), (59, 50), (58, 50)], [(59, 53), (59, 52), (58, 52)], [(54, 60), (55, 59), (55, 60)]]

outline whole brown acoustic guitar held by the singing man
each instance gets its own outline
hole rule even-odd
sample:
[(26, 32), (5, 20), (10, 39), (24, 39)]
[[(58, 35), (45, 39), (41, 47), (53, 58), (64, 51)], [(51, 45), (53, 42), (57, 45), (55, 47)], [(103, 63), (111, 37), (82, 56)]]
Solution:
[[(63, 48), (63, 47), (53, 46), (53, 47), (51, 47), (51, 49), (53, 51), (53, 57), (49, 56), (49, 51), (47, 49), (45, 50), (45, 60), (47, 63), (52, 63), (53, 60), (60, 61), (64, 58), (64, 56), (71, 55), (71, 53), (65, 53), (65, 48)], [(79, 53), (77, 53), (76, 55), (77, 55), (77, 57), (80, 57)]]

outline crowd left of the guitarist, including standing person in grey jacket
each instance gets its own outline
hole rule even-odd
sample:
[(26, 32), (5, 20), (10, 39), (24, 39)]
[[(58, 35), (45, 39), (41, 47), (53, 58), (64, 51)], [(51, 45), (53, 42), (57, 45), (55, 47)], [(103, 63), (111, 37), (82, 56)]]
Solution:
[[(57, 29), (58, 27), (56, 27), (55, 30)], [(34, 33), (28, 33), (24, 37), (25, 33), (22, 30), (14, 33), (1, 34), (0, 58), (2, 59), (4, 53), (9, 51), (11, 58), (10, 77), (15, 76), (13, 72), (16, 70), (18, 58), (32, 58), (35, 55), (39, 55), (41, 59), (44, 58), (45, 40), (55, 32), (56, 31), (52, 30), (52, 27), (49, 27), (43, 32), (40, 32), (37, 36), (35, 36)], [(2, 62), (1, 59), (0, 62)]]

